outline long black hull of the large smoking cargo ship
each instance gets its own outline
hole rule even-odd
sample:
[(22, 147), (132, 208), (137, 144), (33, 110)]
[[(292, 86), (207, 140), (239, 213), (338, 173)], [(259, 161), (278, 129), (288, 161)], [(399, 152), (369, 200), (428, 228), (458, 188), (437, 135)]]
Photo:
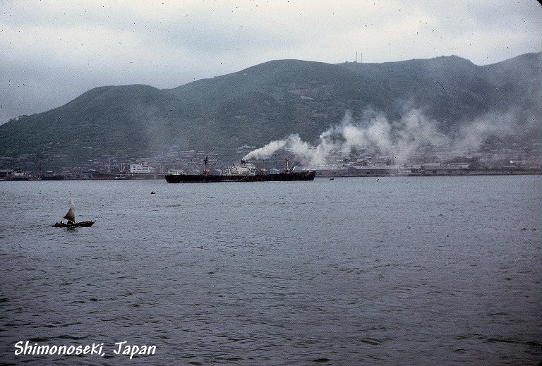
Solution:
[(287, 182), (314, 181), (315, 171), (278, 174), (256, 174), (255, 176), (205, 176), (203, 174), (166, 174), (167, 183), (219, 183), (219, 182)]

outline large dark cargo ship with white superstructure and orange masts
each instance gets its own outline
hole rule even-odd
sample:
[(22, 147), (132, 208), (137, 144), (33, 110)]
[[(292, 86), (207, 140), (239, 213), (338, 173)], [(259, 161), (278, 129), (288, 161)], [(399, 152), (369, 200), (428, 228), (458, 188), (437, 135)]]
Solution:
[(313, 181), (316, 171), (290, 171), (288, 159), (284, 159), (284, 170), (277, 174), (267, 174), (263, 169), (256, 169), (254, 164), (241, 160), (241, 164), (229, 166), (218, 175), (209, 174), (207, 157), (204, 161), (203, 174), (183, 172), (166, 174), (167, 183), (215, 183), (215, 182), (284, 182)]

